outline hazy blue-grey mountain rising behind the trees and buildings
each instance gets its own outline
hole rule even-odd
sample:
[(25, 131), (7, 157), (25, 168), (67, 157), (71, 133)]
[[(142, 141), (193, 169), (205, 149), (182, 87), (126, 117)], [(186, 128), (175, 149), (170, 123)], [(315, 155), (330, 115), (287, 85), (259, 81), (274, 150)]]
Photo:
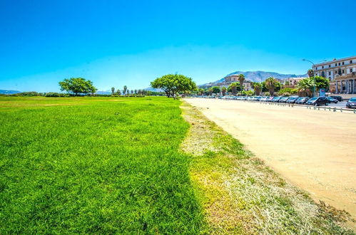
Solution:
[[(295, 75), (295, 74), (281, 74), (281, 73), (275, 73), (275, 72), (265, 72), (265, 71), (236, 71), (233, 73), (229, 73), (228, 75), (234, 75), (234, 74), (243, 74), (245, 75), (246, 80), (250, 80), (252, 82), (263, 82), (267, 78), (273, 77), (273, 78), (278, 78), (278, 79), (284, 79), (284, 78), (304, 78), (307, 77), (307, 74), (303, 75)], [(228, 76), (225, 75), (224, 78), (221, 78), (219, 80), (215, 80), (215, 82), (212, 82), (212, 84), (216, 83), (221, 83), (225, 78)], [(202, 85), (208, 85), (209, 83), (205, 83)]]

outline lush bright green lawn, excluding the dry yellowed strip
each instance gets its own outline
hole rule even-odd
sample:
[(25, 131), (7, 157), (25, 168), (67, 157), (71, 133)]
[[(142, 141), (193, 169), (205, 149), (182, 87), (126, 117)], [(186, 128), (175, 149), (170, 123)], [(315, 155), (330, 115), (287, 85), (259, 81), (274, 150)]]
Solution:
[(167, 98), (0, 98), (0, 234), (198, 233)]

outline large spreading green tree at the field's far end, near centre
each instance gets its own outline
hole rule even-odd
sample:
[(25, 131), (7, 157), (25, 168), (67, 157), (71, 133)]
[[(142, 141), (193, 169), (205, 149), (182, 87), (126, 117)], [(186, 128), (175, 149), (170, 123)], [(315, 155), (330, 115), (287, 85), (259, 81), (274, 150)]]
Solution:
[(163, 75), (161, 78), (153, 80), (151, 86), (153, 88), (162, 89), (168, 98), (174, 98), (174, 95), (179, 92), (186, 93), (188, 91), (197, 90), (197, 86), (193, 80), (181, 74)]

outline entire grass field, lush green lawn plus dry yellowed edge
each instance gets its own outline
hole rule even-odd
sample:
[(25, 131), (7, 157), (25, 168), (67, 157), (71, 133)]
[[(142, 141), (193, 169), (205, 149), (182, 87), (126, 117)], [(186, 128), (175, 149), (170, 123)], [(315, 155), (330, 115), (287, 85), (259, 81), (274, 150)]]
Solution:
[(0, 97), (0, 234), (354, 234), (187, 103)]

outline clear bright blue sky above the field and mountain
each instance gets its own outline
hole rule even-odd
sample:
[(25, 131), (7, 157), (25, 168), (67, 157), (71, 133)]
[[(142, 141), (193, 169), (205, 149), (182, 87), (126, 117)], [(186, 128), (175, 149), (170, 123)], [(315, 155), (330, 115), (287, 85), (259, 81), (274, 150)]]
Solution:
[(233, 71), (304, 74), (356, 55), (355, 0), (0, 0), (0, 89), (146, 88), (166, 73), (196, 83)]

